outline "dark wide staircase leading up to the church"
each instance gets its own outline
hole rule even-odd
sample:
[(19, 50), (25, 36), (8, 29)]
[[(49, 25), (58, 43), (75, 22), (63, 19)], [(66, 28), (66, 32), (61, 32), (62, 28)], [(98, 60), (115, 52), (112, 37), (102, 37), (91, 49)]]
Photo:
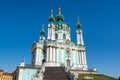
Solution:
[(46, 67), (43, 80), (69, 80), (62, 67)]

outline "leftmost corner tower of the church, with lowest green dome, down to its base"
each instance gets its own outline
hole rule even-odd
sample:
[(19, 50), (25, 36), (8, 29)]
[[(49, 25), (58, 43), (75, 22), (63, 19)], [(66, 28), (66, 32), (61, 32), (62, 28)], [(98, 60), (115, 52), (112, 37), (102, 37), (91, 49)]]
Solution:
[(45, 30), (44, 25), (42, 25), (42, 29), (40, 31), (39, 42), (34, 42), (32, 45), (32, 65), (42, 65), (44, 56), (44, 41), (45, 41)]

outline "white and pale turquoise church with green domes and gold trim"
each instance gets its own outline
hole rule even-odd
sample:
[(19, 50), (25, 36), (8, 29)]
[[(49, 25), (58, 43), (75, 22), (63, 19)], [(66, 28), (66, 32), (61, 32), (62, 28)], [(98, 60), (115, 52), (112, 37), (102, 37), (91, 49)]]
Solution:
[(51, 72), (59, 67), (71, 71), (88, 71), (83, 30), (79, 18), (75, 24), (76, 43), (71, 41), (71, 28), (64, 22), (61, 8), (58, 8), (58, 14), (55, 17), (51, 10), (48, 20), (47, 37), (42, 25), (39, 42), (34, 42), (32, 45), (31, 64), (21, 62), (15, 71), (14, 80), (37, 80), (36, 77), (41, 78), (38, 80), (50, 80), (43, 78), (47, 67)]

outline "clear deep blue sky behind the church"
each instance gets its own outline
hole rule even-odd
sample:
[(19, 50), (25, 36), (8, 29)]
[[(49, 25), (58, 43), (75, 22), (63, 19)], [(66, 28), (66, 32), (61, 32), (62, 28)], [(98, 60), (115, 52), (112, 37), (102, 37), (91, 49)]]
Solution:
[(120, 0), (0, 0), (0, 69), (14, 71), (21, 61), (31, 63), (31, 47), (47, 25), (50, 9), (61, 7), (76, 43), (80, 18), (88, 67), (120, 76)]

